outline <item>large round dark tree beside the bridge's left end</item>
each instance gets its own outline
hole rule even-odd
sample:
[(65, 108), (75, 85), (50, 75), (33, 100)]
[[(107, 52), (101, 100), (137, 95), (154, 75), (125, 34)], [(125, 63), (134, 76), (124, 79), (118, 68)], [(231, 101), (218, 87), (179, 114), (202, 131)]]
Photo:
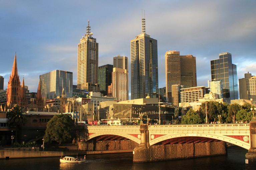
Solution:
[(71, 141), (74, 136), (74, 122), (68, 114), (57, 114), (47, 123), (44, 141), (59, 144)]

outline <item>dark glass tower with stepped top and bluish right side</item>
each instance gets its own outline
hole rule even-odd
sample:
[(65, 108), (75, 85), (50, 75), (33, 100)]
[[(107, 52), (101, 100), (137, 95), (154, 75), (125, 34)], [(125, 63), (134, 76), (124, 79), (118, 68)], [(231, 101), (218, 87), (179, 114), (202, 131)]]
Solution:
[(236, 65), (232, 64), (230, 53), (219, 54), (219, 59), (211, 60), (212, 81), (222, 81), (223, 97), (238, 99)]

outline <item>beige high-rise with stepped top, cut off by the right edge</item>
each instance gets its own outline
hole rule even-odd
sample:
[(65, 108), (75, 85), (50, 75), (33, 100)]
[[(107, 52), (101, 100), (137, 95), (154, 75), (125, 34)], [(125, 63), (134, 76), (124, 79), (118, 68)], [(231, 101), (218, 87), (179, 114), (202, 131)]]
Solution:
[(256, 100), (256, 76), (248, 72), (244, 78), (239, 79), (239, 94), (240, 99)]

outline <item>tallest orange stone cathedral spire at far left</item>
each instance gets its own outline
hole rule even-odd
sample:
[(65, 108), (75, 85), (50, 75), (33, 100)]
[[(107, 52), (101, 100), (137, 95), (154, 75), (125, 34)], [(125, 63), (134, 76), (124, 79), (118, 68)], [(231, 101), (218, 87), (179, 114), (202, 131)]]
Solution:
[(20, 78), (18, 75), (16, 53), (12, 65), (12, 72), (7, 85), (6, 103), (8, 107), (18, 104), (20, 91)]

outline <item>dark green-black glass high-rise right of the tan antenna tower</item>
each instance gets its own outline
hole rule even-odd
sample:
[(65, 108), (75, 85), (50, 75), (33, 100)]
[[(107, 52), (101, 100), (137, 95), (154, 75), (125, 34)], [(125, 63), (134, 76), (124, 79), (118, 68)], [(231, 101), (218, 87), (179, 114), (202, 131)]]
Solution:
[(112, 83), (112, 71), (113, 65), (110, 64), (99, 66), (98, 68), (99, 92), (104, 96), (107, 95), (107, 86)]

